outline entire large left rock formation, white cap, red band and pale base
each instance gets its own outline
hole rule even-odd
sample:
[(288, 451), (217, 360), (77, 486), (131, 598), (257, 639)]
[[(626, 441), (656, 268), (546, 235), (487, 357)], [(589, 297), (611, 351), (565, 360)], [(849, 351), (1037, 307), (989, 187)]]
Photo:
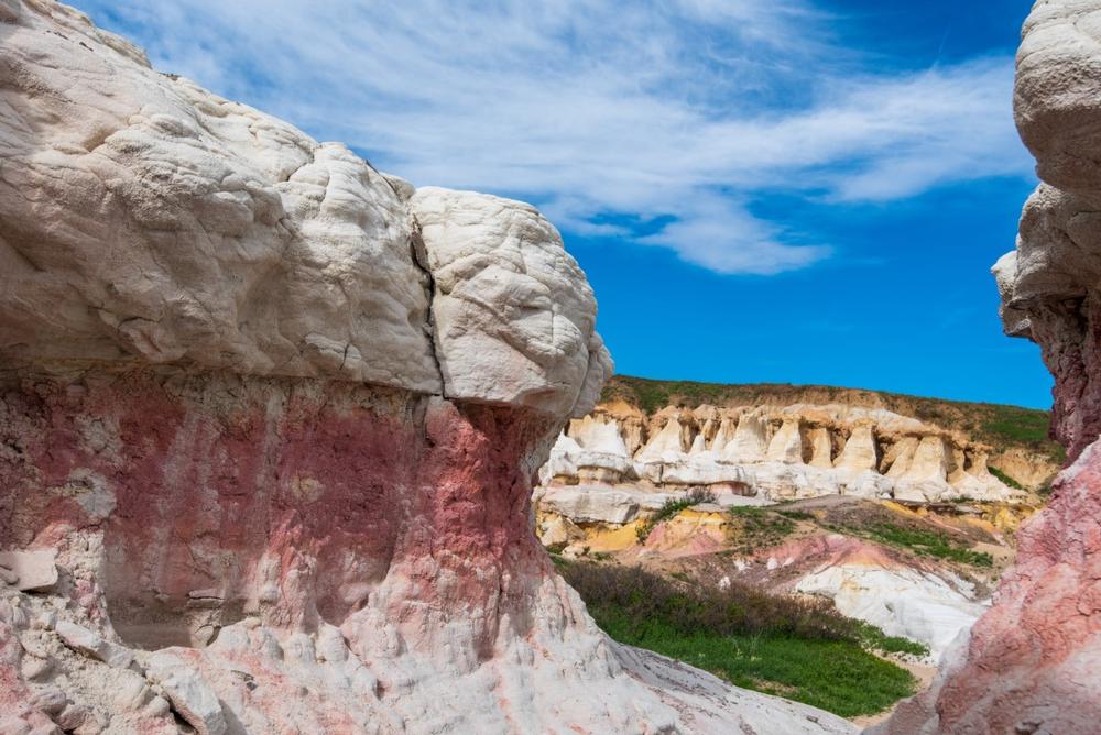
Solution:
[(0, 1), (0, 732), (848, 733), (619, 646), (531, 480), (611, 363), (555, 229)]

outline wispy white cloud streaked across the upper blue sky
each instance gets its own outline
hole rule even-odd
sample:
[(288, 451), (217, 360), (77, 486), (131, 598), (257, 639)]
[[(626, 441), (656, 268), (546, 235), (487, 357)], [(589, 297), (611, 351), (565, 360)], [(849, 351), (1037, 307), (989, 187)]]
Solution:
[[(871, 74), (804, 0), (78, 4), (159, 68), (416, 184), (527, 198), (567, 233), (672, 248), (721, 273), (829, 254), (750, 213), (770, 191), (891, 200), (1031, 172), (1012, 59)], [(665, 223), (640, 234), (624, 221)]]

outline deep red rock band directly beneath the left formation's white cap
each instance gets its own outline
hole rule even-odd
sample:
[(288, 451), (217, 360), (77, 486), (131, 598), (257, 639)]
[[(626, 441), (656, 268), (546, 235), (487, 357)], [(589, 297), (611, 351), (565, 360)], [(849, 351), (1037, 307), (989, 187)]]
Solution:
[[(340, 625), (394, 570), (440, 611), (517, 604), (505, 567), (548, 573), (522, 470), (548, 427), (522, 410), (143, 370), (23, 377), (0, 412), (0, 537), (54, 547), (100, 527), (112, 622), (146, 647), (243, 615)], [(211, 607), (205, 632), (166, 625)], [(166, 639), (141, 640), (154, 624)]]

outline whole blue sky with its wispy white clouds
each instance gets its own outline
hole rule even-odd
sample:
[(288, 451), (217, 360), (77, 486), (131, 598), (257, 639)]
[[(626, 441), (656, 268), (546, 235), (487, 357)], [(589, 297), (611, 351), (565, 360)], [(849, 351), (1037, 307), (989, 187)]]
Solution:
[(1049, 405), (990, 265), (1029, 0), (77, 0), (414, 184), (537, 204), (619, 372)]

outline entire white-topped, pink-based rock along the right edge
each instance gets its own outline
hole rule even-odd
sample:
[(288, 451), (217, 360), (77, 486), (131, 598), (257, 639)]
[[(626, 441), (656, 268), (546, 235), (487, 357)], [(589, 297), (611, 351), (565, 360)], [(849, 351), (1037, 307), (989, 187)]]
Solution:
[(1017, 127), (1044, 183), (994, 267), (1005, 330), (1055, 375), (1073, 463), (1018, 535), (1016, 567), (934, 690), (881, 733), (1093, 733), (1101, 722), (1101, 2), (1038, 2), (1017, 54)]

